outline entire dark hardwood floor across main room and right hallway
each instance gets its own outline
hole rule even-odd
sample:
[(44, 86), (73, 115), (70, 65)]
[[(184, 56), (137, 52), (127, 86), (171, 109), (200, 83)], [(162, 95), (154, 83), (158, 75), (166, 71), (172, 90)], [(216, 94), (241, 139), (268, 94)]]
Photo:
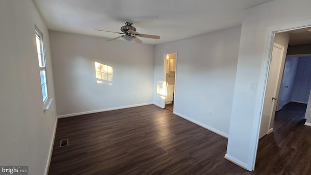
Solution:
[[(275, 132), (259, 140), (254, 172), (223, 158), (227, 139), (155, 105), (59, 119), (49, 175), (311, 172), (311, 128), (303, 125), (303, 112), (283, 113), (287, 117), (276, 116)], [(60, 148), (60, 140), (67, 138), (69, 145)]]

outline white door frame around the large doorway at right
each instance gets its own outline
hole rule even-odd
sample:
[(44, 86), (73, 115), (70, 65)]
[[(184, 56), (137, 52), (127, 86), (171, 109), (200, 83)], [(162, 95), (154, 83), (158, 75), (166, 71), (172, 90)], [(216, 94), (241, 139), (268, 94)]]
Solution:
[(302, 29), (311, 27), (311, 19), (295, 22), (295, 23), (289, 23), (284, 24), (281, 26), (276, 27), (269, 27), (267, 28), (266, 37), (265, 37), (265, 44), (264, 44), (264, 53), (263, 53), (263, 60), (262, 60), (262, 66), (260, 70), (260, 77), (259, 77), (259, 86), (258, 87), (258, 94), (257, 94), (257, 101), (256, 101), (256, 107), (255, 107), (255, 113), (259, 114), (255, 115), (254, 123), (253, 123), (253, 131), (251, 132), (252, 139), (250, 140), (250, 151), (251, 154), (248, 157), (249, 165), (252, 167), (247, 168), (248, 170), (255, 170), (255, 163), (256, 163), (256, 156), (258, 151), (258, 142), (259, 142), (259, 130), (260, 130), (260, 124), (261, 124), (261, 118), (262, 118), (262, 108), (263, 108), (263, 102), (264, 102), (264, 95), (266, 92), (267, 87), (267, 79), (268, 79), (268, 73), (269, 73), (269, 63), (272, 55), (272, 49), (273, 49), (273, 43), (274, 43), (274, 36), (276, 33), (281, 32), (287, 32), (291, 30), (296, 29)]

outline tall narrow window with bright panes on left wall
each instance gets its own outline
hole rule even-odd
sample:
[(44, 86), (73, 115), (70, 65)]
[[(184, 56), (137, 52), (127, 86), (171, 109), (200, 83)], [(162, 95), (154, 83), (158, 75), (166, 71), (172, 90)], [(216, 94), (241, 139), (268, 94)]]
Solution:
[(47, 71), (45, 64), (44, 56), (44, 47), (43, 47), (43, 35), (40, 30), (35, 26), (35, 42), (37, 47), (38, 63), (40, 69), (40, 79), (41, 79), (41, 88), (42, 88), (42, 97), (43, 102), (48, 99), (48, 85), (47, 85)]

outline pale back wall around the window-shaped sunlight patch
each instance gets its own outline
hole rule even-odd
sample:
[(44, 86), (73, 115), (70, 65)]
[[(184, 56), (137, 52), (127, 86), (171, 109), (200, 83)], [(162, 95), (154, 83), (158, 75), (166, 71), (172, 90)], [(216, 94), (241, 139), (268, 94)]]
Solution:
[[(50, 31), (58, 115), (153, 101), (154, 46)], [(112, 86), (97, 84), (94, 62), (113, 67)]]

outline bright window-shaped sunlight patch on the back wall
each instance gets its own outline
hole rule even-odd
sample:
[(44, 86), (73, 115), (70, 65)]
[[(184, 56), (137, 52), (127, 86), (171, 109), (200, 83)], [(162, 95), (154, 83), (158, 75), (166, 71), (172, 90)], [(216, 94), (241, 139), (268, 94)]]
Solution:
[(112, 86), (113, 69), (111, 66), (95, 62), (95, 78), (97, 84)]

